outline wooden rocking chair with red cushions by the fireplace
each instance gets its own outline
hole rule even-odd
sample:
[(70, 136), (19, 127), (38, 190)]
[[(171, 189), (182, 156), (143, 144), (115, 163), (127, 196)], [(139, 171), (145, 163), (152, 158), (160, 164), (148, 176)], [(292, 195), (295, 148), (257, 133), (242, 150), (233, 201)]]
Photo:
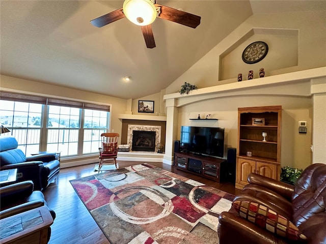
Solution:
[(106, 163), (106, 161), (114, 162), (116, 168), (117, 168), (117, 154), (118, 154), (118, 139), (119, 134), (118, 133), (102, 133), (102, 147), (99, 147), (100, 152), (100, 163), (98, 166), (98, 169), (100, 170), (103, 163)]

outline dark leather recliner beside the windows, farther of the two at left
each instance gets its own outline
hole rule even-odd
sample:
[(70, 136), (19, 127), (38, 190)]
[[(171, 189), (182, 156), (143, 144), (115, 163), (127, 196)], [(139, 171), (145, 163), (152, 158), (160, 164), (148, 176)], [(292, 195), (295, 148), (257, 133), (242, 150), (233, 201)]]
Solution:
[(14, 137), (0, 137), (0, 170), (17, 169), (17, 180), (32, 180), (35, 190), (45, 189), (59, 175), (59, 154), (26, 157)]

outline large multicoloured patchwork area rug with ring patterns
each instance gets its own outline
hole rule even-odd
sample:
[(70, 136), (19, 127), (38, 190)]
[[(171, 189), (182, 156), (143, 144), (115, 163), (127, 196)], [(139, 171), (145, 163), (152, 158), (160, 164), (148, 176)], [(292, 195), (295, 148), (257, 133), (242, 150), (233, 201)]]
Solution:
[(219, 243), (234, 197), (146, 163), (70, 182), (112, 244)]

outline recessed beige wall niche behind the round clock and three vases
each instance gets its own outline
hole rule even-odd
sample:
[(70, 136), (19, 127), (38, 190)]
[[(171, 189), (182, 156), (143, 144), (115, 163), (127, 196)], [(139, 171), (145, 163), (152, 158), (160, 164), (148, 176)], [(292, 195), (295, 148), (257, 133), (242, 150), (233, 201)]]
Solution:
[[(285, 68), (296, 69), (298, 33), (297, 29), (255, 28), (250, 38), (239, 41), (239, 46), (227, 55), (224, 56), (224, 53), (221, 55), (219, 80), (234, 82), (238, 73), (242, 74), (242, 80), (248, 80), (249, 70), (253, 71), (254, 78), (259, 78), (260, 68), (264, 68), (265, 76), (282, 73), (282, 69)], [(263, 41), (268, 45), (266, 57), (256, 64), (249, 65), (242, 62), (244, 48), (256, 41)], [(237, 60), (240, 62), (235, 62)]]

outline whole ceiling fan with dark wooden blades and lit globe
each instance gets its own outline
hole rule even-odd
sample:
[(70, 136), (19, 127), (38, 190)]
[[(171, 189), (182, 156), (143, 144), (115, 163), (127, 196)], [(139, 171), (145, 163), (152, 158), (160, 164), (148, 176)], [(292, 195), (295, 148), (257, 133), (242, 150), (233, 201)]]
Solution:
[(156, 4), (156, 0), (125, 0), (123, 8), (93, 19), (91, 23), (96, 27), (102, 27), (124, 17), (142, 27), (147, 48), (156, 47), (151, 27), (151, 23), (156, 17), (192, 28), (196, 28), (200, 24), (201, 18), (194, 14)]

